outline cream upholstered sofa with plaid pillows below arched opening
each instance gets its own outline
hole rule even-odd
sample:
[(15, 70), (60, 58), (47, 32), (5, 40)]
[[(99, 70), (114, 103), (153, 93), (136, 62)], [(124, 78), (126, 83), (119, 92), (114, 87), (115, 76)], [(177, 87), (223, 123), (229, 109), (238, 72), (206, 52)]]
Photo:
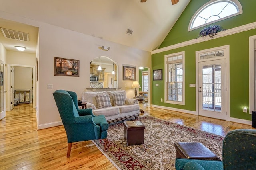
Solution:
[(83, 92), (82, 101), (86, 102), (86, 108), (92, 108), (94, 115), (105, 115), (108, 123), (137, 119), (140, 114), (138, 101), (126, 98), (125, 90)]

